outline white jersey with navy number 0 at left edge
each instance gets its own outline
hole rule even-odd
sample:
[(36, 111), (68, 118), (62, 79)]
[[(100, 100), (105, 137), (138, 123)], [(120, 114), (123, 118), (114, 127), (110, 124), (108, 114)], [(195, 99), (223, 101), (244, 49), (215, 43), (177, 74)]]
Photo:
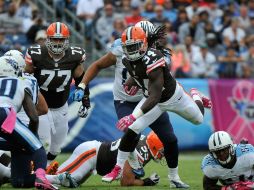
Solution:
[(33, 88), (36, 85), (15, 77), (0, 77), (0, 107), (12, 107), (16, 112), (19, 112), (25, 91), (32, 97)]

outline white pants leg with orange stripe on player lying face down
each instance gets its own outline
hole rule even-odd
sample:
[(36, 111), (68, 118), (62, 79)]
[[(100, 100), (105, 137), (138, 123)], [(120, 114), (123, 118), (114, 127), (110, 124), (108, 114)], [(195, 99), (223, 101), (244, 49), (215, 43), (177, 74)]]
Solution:
[[(83, 183), (96, 169), (97, 151), (101, 143), (88, 141), (80, 144), (72, 155), (59, 167), (57, 175), (47, 175), (54, 184), (72, 187)], [(70, 174), (70, 176), (68, 175)]]

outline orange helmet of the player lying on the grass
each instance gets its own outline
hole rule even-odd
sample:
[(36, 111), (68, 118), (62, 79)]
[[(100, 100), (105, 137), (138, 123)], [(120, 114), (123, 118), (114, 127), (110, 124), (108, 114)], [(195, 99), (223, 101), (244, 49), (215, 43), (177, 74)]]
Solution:
[(148, 148), (154, 160), (161, 160), (164, 156), (164, 146), (158, 136), (153, 131), (148, 134), (146, 138), (146, 144), (148, 145)]

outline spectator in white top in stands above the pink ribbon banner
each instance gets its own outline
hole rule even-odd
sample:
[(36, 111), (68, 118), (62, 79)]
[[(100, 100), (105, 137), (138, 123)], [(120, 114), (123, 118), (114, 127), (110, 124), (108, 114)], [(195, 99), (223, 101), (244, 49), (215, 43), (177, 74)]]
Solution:
[(243, 40), (245, 32), (239, 27), (238, 23), (238, 18), (233, 18), (231, 25), (223, 31), (223, 38), (228, 38), (231, 42), (236, 40), (238, 43)]

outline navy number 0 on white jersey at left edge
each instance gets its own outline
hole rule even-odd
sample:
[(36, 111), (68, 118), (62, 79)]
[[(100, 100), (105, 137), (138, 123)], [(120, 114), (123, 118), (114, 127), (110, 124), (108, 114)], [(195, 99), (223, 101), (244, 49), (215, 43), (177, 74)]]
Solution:
[(16, 79), (3, 79), (1, 81), (0, 96), (7, 96), (13, 99), (17, 89)]

